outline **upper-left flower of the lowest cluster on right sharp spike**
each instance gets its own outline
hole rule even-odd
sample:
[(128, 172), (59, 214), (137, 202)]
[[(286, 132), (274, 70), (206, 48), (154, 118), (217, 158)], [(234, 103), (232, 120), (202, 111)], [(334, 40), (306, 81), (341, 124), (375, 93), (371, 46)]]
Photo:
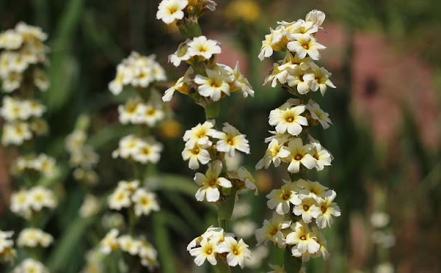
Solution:
[(276, 209), (278, 214), (289, 213), (290, 204), (299, 205), (302, 201), (296, 193), (297, 187), (295, 183), (287, 182), (280, 189), (271, 190), (267, 194), (267, 205), (271, 210)]

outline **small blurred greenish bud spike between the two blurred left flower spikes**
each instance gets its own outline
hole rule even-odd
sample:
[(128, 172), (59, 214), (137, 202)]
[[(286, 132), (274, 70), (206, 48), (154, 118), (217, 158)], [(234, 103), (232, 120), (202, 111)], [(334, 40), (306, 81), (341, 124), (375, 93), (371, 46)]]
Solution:
[(80, 117), (75, 130), (65, 139), (65, 148), (70, 154), (69, 161), (74, 168), (74, 179), (86, 185), (96, 185), (99, 176), (94, 169), (99, 162), (99, 154), (86, 143), (88, 134), (85, 128), (88, 127), (88, 123), (88, 117)]

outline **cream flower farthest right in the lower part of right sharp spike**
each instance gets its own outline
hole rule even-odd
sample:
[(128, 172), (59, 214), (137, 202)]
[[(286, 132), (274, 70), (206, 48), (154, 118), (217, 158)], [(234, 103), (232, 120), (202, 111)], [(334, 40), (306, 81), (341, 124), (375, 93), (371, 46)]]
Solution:
[(333, 202), (336, 196), (337, 194), (334, 190), (328, 190), (325, 194), (325, 198), (317, 199), (317, 204), (311, 208), (311, 215), (316, 219), (318, 228), (330, 227), (332, 224), (332, 215), (340, 216), (340, 208)]

